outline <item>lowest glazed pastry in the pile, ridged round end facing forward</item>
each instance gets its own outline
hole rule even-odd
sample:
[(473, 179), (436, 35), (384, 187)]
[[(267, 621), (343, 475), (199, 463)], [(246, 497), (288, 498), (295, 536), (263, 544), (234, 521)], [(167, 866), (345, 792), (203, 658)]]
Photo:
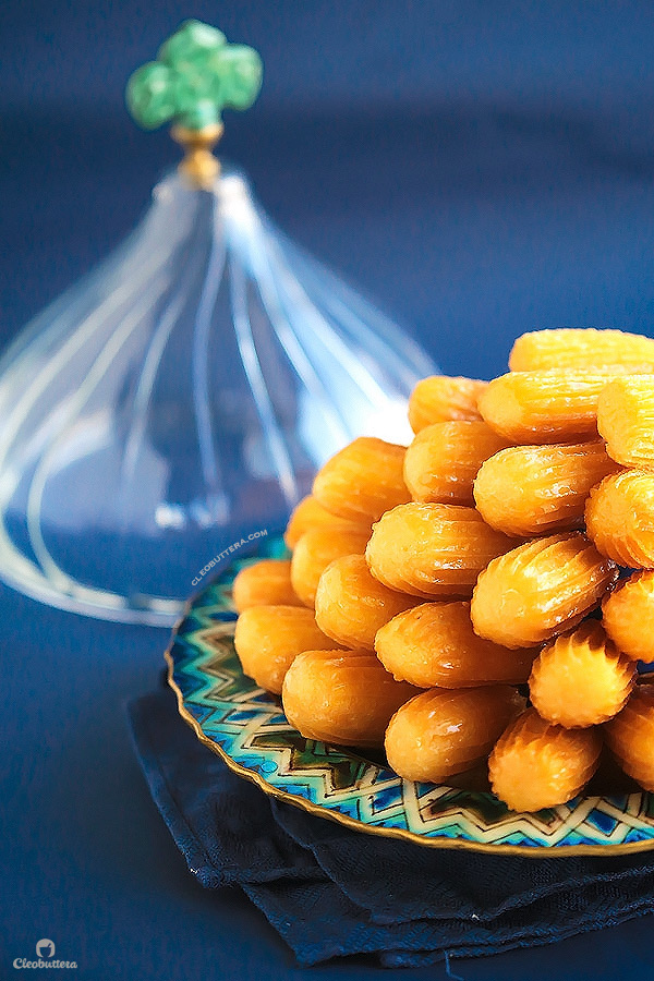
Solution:
[(601, 750), (598, 729), (565, 729), (528, 708), (491, 753), (491, 786), (512, 811), (555, 808), (577, 797), (588, 784)]

